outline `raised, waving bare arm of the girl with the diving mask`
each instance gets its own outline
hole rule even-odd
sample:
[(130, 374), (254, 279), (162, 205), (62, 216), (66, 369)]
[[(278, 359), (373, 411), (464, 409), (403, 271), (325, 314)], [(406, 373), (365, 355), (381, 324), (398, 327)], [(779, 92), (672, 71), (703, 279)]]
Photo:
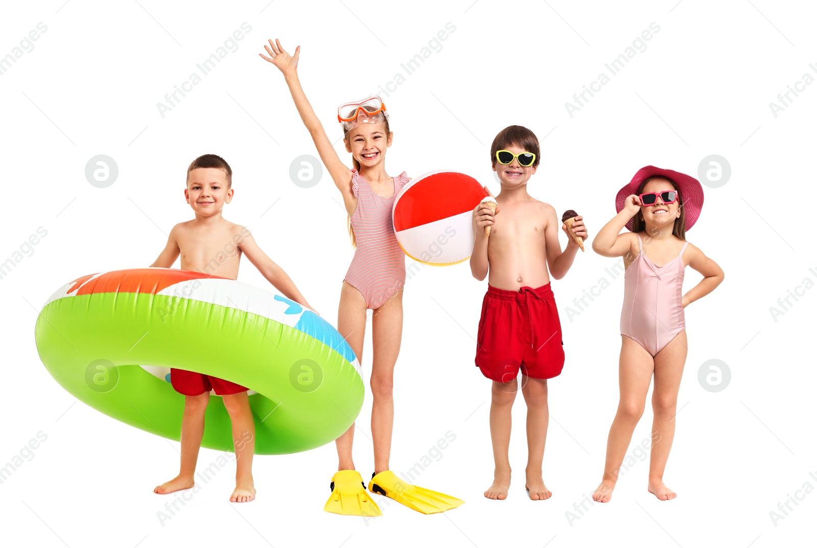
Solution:
[[(269, 40), (270, 45), (264, 45), (264, 49), (269, 54), (265, 56), (259, 53), (261, 59), (264, 59), (275, 65), (283, 74), (283, 79), (287, 82), (289, 92), (292, 94), (292, 100), (295, 101), (295, 107), (298, 109), (298, 114), (301, 114), (306, 129), (309, 130), (312, 140), (315, 142), (315, 148), (318, 149), (318, 154), (321, 161), (326, 166), (329, 175), (335, 181), (335, 185), (341, 190), (344, 201), (351, 197), (355, 199), (351, 190), (351, 172), (349, 167), (342, 163), (341, 158), (338, 158), (337, 151), (332, 146), (332, 142), (326, 136), (324, 126), (321, 125), (320, 120), (315, 115), (315, 110), (312, 109), (309, 100), (306, 99), (306, 94), (301, 87), (301, 82), (298, 80), (298, 58), (301, 55), (301, 47), (295, 48), (295, 55), (290, 56), (287, 51), (281, 47), (281, 42), (276, 38), (275, 43)], [(355, 204), (356, 205), (356, 204)], [(349, 204), (346, 204), (346, 209), (349, 209)], [(355, 211), (353, 207), (352, 212)]]

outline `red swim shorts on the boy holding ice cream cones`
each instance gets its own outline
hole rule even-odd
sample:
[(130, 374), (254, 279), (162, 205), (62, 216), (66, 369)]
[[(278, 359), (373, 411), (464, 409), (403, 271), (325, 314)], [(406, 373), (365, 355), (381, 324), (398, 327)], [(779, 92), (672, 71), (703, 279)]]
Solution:
[(482, 301), (474, 362), (492, 381), (522, 374), (534, 379), (558, 375), (565, 365), (561, 323), (550, 282), (518, 292), (488, 286)]

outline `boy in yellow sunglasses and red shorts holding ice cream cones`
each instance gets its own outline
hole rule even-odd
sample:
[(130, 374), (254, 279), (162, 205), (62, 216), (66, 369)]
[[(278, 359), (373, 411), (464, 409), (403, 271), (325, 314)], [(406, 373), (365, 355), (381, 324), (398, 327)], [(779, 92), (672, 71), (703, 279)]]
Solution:
[[(486, 203), (474, 209), (474, 251), (471, 274), (488, 275), (482, 302), (475, 364), (492, 381), (491, 442), (493, 484), (485, 497), (503, 500), (511, 484), (508, 445), (511, 441), (511, 406), (516, 398), (517, 373), (522, 370), (522, 395), (528, 404), (528, 464), (525, 488), (531, 500), (551, 497), (542, 479), (547, 436), (547, 379), (557, 376), (565, 363), (561, 327), (551, 276), (563, 278), (573, 264), (578, 243), (568, 238), (559, 244), (556, 210), (528, 194), (530, 176), (539, 164), (539, 140), (526, 127), (506, 127), (491, 145), (491, 165), (502, 190), (496, 211)], [(490, 191), (485, 187), (487, 192)], [(493, 196), (493, 194), (492, 194)], [(484, 227), (490, 226), (490, 236)], [(581, 216), (573, 233), (587, 239)], [(548, 273), (548, 267), (550, 272)]]

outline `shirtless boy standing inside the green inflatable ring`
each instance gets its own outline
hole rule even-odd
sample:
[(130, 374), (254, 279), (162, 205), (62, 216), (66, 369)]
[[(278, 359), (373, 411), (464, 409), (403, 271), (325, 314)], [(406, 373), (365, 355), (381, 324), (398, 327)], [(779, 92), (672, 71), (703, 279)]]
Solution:
[[(181, 270), (207, 272), (222, 278), (236, 279), (241, 253), (264, 274), (269, 282), (292, 301), (311, 308), (286, 272), (261, 251), (252, 234), (241, 225), (226, 221), (221, 209), (233, 198), (233, 171), (223, 158), (204, 154), (187, 168), (185, 199), (195, 212), (195, 219), (174, 226), (153, 265), (171, 268), (181, 254)], [(228, 255), (225, 247), (233, 247)], [(213, 266), (215, 265), (215, 266)], [(198, 336), (206, 337), (205, 333)], [(206, 344), (203, 339), (202, 344)], [(194, 485), (196, 460), (204, 434), (204, 412), (210, 401), (210, 390), (221, 396), (233, 425), (235, 449), (235, 490), (231, 502), (248, 502), (255, 497), (252, 482), (252, 455), (255, 452), (255, 423), (247, 388), (215, 376), (172, 369), (170, 379), (176, 392), (185, 395), (185, 412), (181, 419), (181, 466), (179, 474), (154, 488), (167, 494)]]

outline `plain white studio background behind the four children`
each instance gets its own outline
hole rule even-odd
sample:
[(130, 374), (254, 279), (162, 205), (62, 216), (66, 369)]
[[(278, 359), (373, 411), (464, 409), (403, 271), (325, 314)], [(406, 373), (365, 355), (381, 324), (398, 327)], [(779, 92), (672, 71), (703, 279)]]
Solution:
[[(35, 546), (792, 546), (814, 542), (817, 494), (776, 525), (770, 511), (808, 482), (817, 487), (815, 360), (817, 290), (777, 321), (770, 306), (804, 278), (817, 281), (811, 241), (817, 85), (775, 118), (770, 101), (817, 77), (810, 2), (4, 2), (0, 56), (38, 22), (33, 51), (0, 77), (2, 245), (11, 257), (38, 227), (47, 236), (2, 288), (6, 387), (0, 466), (47, 435), (30, 461), (0, 484), (0, 537)], [(164, 118), (156, 103), (181, 85), (243, 22), (252, 26)], [(420, 515), (382, 497), (383, 517), (364, 523), (323, 511), (337, 466), (333, 444), (255, 461), (257, 500), (230, 505), (232, 465), (163, 523), (178, 443), (114, 421), (62, 390), (38, 359), (33, 327), (51, 292), (79, 275), (150, 265), (172, 226), (190, 219), (185, 169), (220, 154), (234, 169), (225, 218), (252, 229), (261, 247), (334, 323), (352, 248), (346, 212), (324, 171), (293, 184), (289, 166), (315, 154), (278, 70), (257, 54), (278, 37), (301, 44), (301, 82), (333, 140), (337, 105), (377, 92), (446, 23), (456, 29), (383, 99), (395, 144), (387, 171), (452, 169), (496, 193), (493, 136), (510, 124), (542, 139), (534, 197), (581, 213), (591, 238), (614, 215), (616, 191), (642, 166), (697, 176), (719, 154), (730, 180), (704, 187), (690, 242), (725, 270), (725, 282), (686, 311), (690, 353), (667, 466), (676, 500), (646, 491), (648, 462), (619, 481), (613, 501), (565, 514), (596, 487), (618, 402), (622, 278), (570, 321), (565, 308), (614, 260), (579, 253), (553, 289), (567, 361), (550, 385), (545, 481), (553, 497), (524, 489), (525, 403), (514, 409), (506, 501), (482, 492), (493, 478), (489, 381), (473, 365), (486, 284), (467, 263), (423, 267), (405, 289), (403, 349), (395, 372), (392, 468), (419, 461), (451, 431), (456, 439), (417, 483), (467, 501)], [(651, 22), (639, 52), (570, 118), (565, 102), (596, 80)], [(439, 48), (437, 48), (439, 49)], [(404, 73), (403, 73), (404, 74)], [(395, 89), (395, 87), (392, 87)], [(792, 96), (793, 97), (793, 96)], [(341, 144), (337, 149), (342, 152)], [(114, 185), (96, 188), (85, 164), (107, 154)], [(350, 161), (346, 153), (342, 158)], [(722, 181), (721, 181), (722, 182)], [(270, 205), (275, 207), (270, 210)], [(269, 211), (268, 211), (269, 210)], [(561, 235), (562, 245), (565, 236)], [(176, 265), (178, 266), (178, 265)], [(269, 283), (248, 261), (239, 279)], [(685, 290), (700, 279), (687, 270)], [(197, 334), (207, 341), (208, 333)], [(368, 335), (368, 334), (367, 334)], [(730, 384), (704, 390), (699, 367), (723, 360)], [(371, 364), (367, 336), (364, 369)], [(649, 402), (649, 400), (648, 400)], [(367, 395), (355, 463), (373, 469)], [(630, 453), (650, 436), (648, 408)], [(199, 467), (219, 453), (203, 449)], [(787, 510), (788, 511), (788, 510)]]

